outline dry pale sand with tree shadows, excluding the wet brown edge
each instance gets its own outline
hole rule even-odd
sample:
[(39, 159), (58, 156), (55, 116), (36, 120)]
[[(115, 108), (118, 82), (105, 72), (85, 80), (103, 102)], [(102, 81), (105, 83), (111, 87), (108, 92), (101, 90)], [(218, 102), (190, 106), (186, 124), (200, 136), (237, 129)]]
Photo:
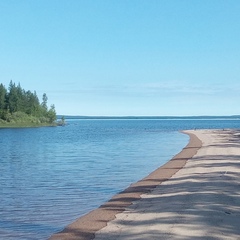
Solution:
[(95, 240), (240, 239), (240, 131), (187, 131), (202, 147)]

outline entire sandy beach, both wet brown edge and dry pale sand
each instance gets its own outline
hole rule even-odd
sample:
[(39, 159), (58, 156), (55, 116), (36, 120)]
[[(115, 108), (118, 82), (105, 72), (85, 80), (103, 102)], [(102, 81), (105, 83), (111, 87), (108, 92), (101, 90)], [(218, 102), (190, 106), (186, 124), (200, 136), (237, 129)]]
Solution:
[(50, 239), (240, 239), (240, 131), (186, 131), (182, 152)]

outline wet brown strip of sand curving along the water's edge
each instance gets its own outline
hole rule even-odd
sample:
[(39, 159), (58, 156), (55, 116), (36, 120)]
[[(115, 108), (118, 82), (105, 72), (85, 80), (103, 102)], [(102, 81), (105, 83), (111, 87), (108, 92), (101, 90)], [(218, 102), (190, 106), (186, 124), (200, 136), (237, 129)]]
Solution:
[(123, 212), (133, 201), (139, 200), (142, 194), (152, 191), (159, 184), (171, 178), (184, 167), (187, 160), (192, 158), (202, 146), (202, 142), (194, 134), (184, 131), (182, 133), (188, 134), (190, 139), (180, 153), (147, 177), (131, 184), (127, 189), (113, 196), (99, 208), (80, 217), (61, 232), (52, 235), (49, 240), (93, 239), (95, 232), (105, 227), (109, 221), (115, 218), (116, 214)]

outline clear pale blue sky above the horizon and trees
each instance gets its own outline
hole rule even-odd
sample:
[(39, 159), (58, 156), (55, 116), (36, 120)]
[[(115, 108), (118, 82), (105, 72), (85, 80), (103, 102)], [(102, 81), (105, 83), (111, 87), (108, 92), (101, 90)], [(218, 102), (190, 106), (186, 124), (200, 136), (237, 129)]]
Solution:
[(240, 114), (240, 1), (1, 0), (10, 80), (58, 114)]

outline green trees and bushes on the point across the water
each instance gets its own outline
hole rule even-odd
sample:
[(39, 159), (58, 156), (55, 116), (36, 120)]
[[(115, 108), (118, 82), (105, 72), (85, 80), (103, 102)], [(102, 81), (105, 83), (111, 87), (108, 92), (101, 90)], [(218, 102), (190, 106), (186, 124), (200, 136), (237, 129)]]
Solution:
[(36, 91), (25, 91), (20, 83), (12, 81), (8, 89), (0, 84), (0, 122), (31, 122), (35, 124), (52, 124), (56, 120), (55, 106), (47, 106), (44, 93), (40, 103)]

